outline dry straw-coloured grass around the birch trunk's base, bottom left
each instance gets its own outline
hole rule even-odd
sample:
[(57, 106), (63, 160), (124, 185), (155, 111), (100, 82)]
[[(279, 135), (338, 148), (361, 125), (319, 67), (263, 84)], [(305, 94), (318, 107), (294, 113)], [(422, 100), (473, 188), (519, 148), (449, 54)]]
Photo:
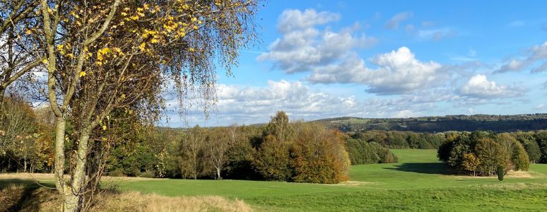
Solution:
[[(89, 211), (252, 211), (240, 200), (220, 196), (160, 196), (138, 192), (106, 192), (96, 196)], [(59, 211), (61, 201), (53, 189), (10, 184), (0, 189), (0, 211)]]

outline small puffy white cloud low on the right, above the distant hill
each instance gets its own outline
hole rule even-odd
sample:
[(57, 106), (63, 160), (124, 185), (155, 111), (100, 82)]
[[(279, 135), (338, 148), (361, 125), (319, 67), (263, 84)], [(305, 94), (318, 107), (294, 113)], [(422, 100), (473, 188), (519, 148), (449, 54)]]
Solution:
[(471, 98), (510, 98), (522, 95), (524, 88), (499, 85), (495, 81), (488, 81), (485, 75), (477, 74), (469, 79), (459, 90), (461, 95)]

